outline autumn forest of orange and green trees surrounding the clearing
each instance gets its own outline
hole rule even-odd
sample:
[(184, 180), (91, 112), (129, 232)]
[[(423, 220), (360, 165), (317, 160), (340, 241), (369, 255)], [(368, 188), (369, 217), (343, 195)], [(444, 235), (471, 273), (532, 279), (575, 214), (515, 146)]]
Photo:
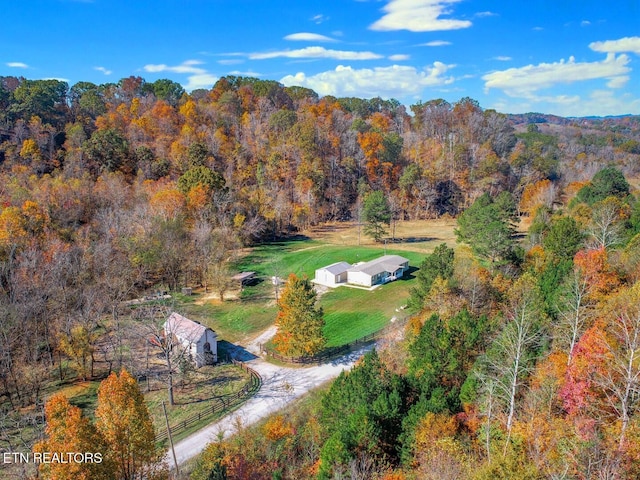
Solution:
[(375, 199), (379, 240), (457, 221), (404, 338), (192, 478), (638, 478), (639, 177), (637, 116), (0, 77), (0, 450), (43, 432), (52, 381), (136, 376), (123, 302), (222, 296), (242, 247), (366, 222)]

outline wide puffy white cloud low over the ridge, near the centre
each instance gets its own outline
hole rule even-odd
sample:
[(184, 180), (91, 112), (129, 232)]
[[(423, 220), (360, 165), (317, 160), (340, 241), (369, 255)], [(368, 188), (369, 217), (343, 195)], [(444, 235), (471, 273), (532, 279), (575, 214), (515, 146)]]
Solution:
[(453, 83), (454, 78), (446, 72), (455, 65), (434, 62), (432, 66), (418, 70), (415, 67), (393, 65), (354, 69), (339, 65), (335, 70), (307, 76), (300, 72), (287, 75), (280, 81), (287, 86), (308, 87), (321, 95), (337, 97), (358, 96), (372, 98), (376, 96), (404, 97), (418, 95), (426, 87), (438, 87)]

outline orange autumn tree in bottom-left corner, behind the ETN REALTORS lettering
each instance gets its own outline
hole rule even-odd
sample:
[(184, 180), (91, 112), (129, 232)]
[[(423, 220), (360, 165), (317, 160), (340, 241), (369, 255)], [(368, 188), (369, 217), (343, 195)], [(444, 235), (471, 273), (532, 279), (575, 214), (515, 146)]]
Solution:
[[(57, 454), (60, 462), (40, 463), (40, 475), (51, 480), (107, 480), (116, 479), (114, 464), (108, 456), (108, 446), (102, 435), (80, 408), (71, 405), (62, 393), (54, 394), (45, 404), (45, 439), (36, 443), (36, 453)], [(96, 461), (66, 461), (69, 453), (96, 455)], [(98, 461), (101, 455), (101, 461)], [(124, 478), (124, 477), (122, 477)]]

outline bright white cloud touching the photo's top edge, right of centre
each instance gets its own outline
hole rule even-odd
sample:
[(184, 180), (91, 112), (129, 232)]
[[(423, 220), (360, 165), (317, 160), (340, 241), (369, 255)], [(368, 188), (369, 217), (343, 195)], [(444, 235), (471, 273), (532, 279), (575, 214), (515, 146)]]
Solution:
[(440, 18), (451, 13), (450, 4), (460, 0), (389, 0), (383, 8), (385, 15), (373, 23), (371, 30), (434, 32), (468, 28), (468, 20)]

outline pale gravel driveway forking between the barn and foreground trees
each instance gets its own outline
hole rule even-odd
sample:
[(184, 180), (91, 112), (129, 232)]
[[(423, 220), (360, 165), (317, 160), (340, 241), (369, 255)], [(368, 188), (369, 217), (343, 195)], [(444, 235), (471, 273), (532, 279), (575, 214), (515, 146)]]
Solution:
[[(247, 350), (242, 351), (243, 355), (246, 356), (250, 349), (257, 350), (257, 344), (268, 340), (274, 333), (275, 329), (267, 329), (247, 345)], [(349, 370), (356, 360), (372, 347), (365, 347), (324, 365), (306, 368), (279, 367), (259, 357), (246, 361), (245, 363), (262, 377), (262, 387), (238, 410), (176, 443), (178, 464), (198, 455), (208, 443), (233, 435), (238, 424), (251, 425), (282, 409), (309, 390), (336, 378), (343, 370)], [(166, 459), (167, 463), (173, 467), (171, 452), (167, 453)]]

